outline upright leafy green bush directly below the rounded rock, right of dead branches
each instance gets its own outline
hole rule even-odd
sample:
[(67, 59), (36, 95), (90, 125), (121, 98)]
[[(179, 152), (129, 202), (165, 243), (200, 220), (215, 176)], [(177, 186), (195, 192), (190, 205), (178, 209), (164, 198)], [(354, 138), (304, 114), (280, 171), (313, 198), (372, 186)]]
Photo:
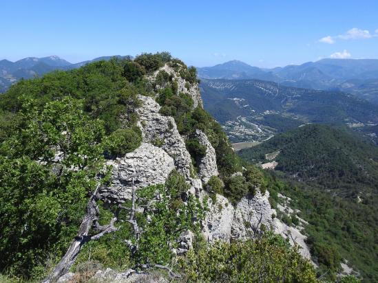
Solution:
[[(177, 247), (176, 240), (183, 231), (200, 231), (200, 220), (204, 218), (202, 205), (196, 196), (187, 196), (189, 185), (185, 178), (176, 171), (171, 172), (165, 186), (158, 185), (140, 191), (139, 196), (158, 194), (156, 201), (149, 208), (151, 219), (143, 227), (143, 234), (138, 242), (136, 261), (149, 264), (167, 264), (173, 254), (171, 247)], [(187, 203), (182, 201), (187, 198)], [(193, 221), (194, 220), (194, 221)]]

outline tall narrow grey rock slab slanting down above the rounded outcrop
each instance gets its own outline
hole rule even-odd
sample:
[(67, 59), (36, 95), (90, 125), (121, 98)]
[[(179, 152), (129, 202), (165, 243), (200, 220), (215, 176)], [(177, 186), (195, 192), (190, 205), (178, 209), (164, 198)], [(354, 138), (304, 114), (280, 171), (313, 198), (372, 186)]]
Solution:
[(193, 190), (202, 190), (202, 182), (193, 174), (191, 156), (185, 147), (185, 141), (178, 133), (174, 118), (159, 113), (160, 105), (147, 96), (140, 95), (143, 106), (138, 109), (143, 141), (158, 145), (174, 159), (176, 170), (191, 183)]

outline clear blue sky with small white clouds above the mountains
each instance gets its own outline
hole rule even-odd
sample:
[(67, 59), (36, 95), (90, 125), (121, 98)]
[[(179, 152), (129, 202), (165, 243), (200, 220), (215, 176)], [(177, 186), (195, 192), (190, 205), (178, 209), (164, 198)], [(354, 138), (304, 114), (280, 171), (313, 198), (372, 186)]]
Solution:
[(377, 0), (12, 0), (0, 3), (0, 26), (0, 60), (169, 51), (198, 67), (275, 67), (378, 58)]

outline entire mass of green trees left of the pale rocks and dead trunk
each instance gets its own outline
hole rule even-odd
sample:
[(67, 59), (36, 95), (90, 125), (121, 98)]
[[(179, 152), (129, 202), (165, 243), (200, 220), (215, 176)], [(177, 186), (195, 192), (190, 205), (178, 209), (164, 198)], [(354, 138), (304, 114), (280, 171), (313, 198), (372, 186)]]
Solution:
[(139, 146), (137, 94), (149, 89), (140, 70), (114, 58), (21, 80), (1, 96), (2, 272), (43, 277), (77, 233), (96, 185), (107, 182), (105, 156)]

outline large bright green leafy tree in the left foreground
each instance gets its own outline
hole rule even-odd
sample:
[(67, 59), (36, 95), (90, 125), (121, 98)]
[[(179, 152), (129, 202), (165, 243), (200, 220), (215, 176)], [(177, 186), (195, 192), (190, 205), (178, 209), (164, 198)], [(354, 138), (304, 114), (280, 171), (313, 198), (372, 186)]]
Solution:
[(25, 277), (43, 275), (48, 254), (65, 252), (104, 163), (103, 123), (80, 101), (63, 98), (42, 111), (33, 104), (23, 100), (22, 126), (0, 146), (0, 270)]

